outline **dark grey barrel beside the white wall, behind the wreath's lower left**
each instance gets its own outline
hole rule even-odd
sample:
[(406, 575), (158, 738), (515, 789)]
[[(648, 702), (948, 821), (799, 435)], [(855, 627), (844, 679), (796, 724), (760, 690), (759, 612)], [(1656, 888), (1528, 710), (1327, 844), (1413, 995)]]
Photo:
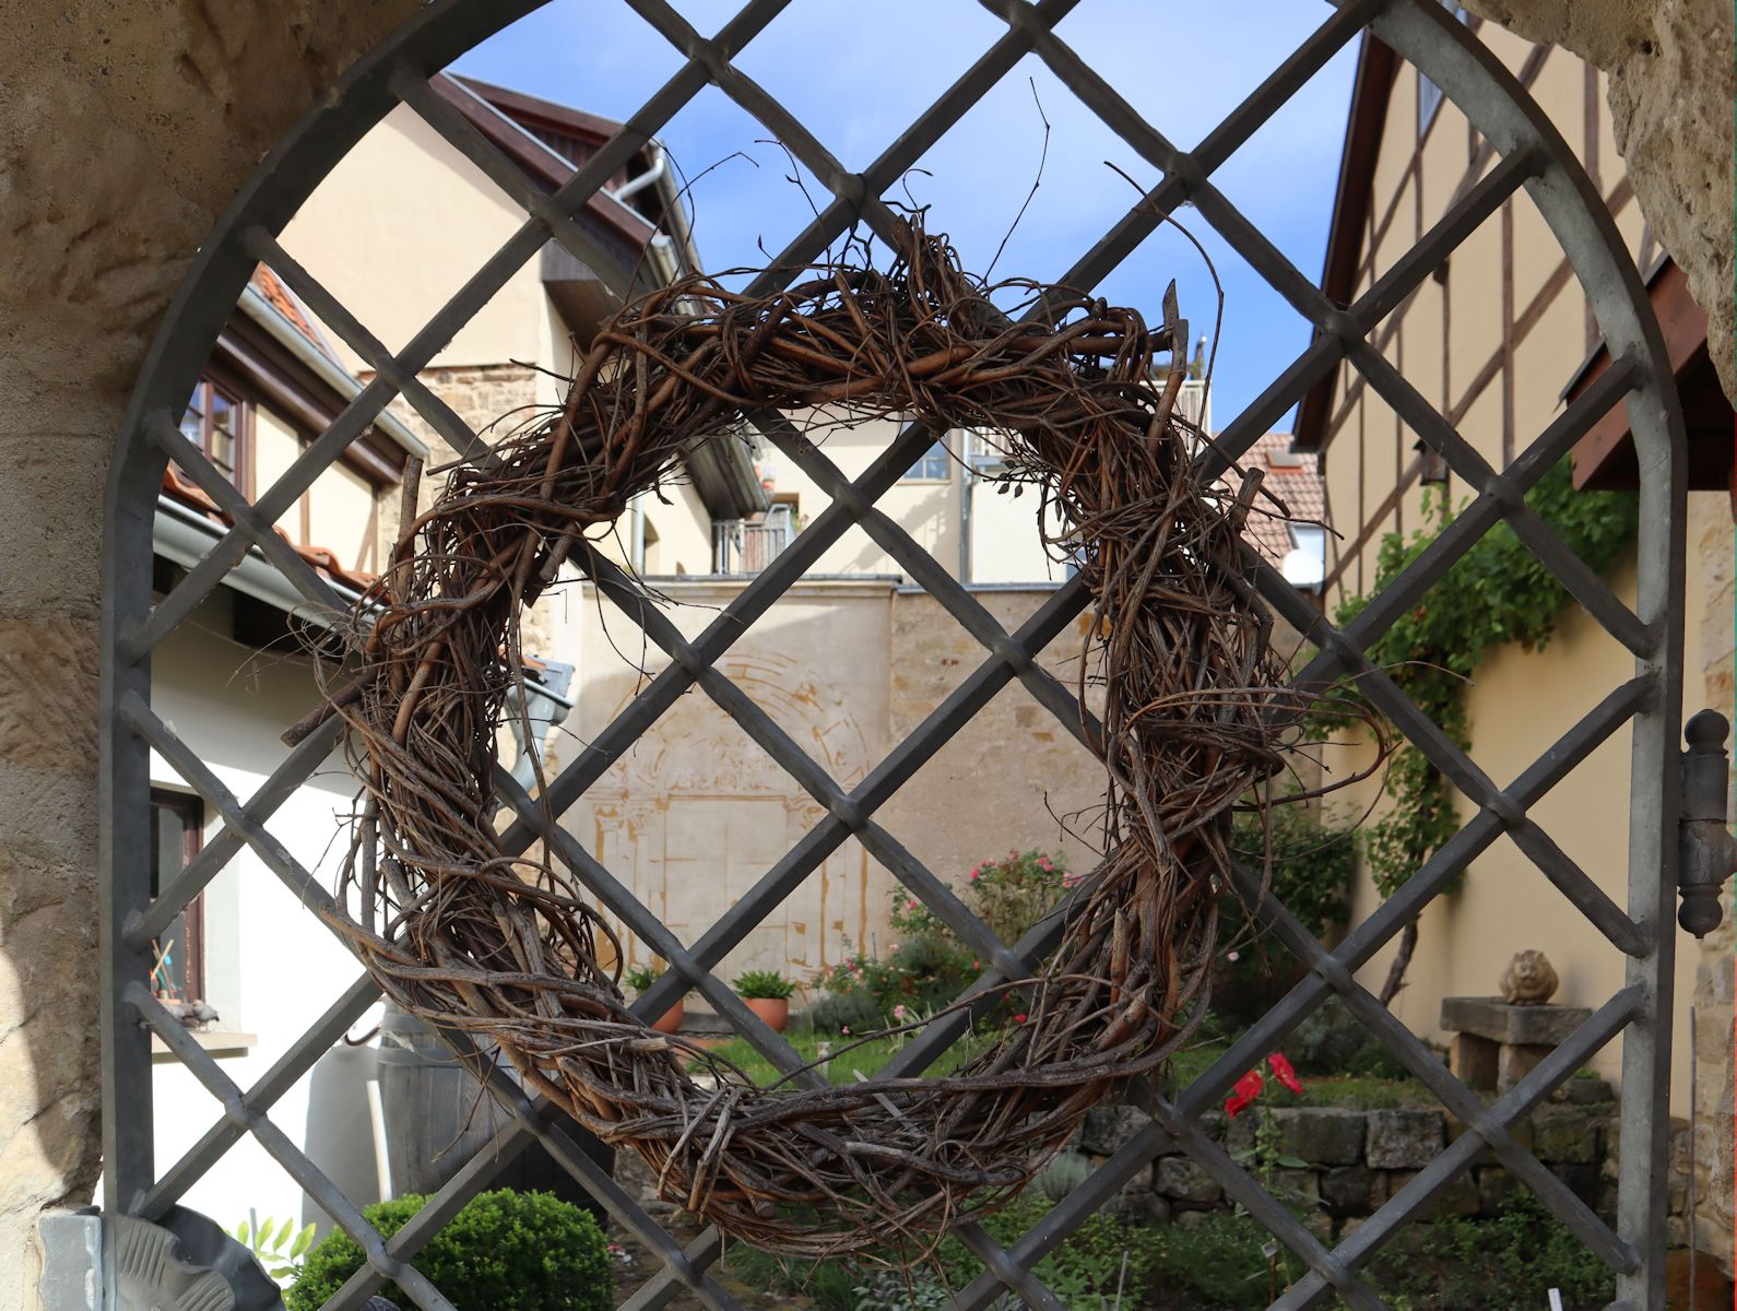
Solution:
[[(436, 1193), (464, 1169), (511, 1117), (476, 1077), (412, 1014), (387, 1002), (380, 1021), (380, 1110), (393, 1193)], [(608, 1172), (613, 1151), (571, 1120), (558, 1125)], [(490, 1188), (554, 1193), (563, 1202), (603, 1212), (594, 1198), (533, 1143), (509, 1162)]]

